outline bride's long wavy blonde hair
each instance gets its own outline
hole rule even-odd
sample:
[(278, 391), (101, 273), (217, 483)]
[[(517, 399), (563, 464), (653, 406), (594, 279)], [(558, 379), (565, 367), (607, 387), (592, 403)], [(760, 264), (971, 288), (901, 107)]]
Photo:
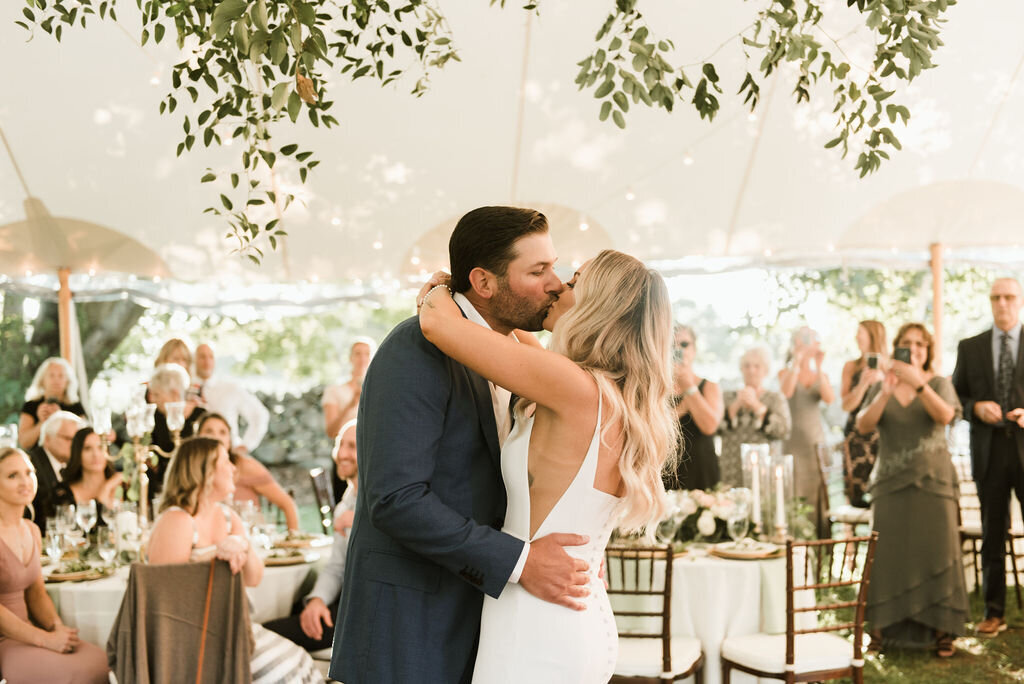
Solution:
[(662, 470), (675, 458), (671, 408), (672, 304), (665, 281), (628, 254), (604, 250), (580, 275), (575, 306), (559, 318), (551, 349), (594, 376), (604, 429), (622, 421), (624, 532), (653, 529), (667, 512)]

